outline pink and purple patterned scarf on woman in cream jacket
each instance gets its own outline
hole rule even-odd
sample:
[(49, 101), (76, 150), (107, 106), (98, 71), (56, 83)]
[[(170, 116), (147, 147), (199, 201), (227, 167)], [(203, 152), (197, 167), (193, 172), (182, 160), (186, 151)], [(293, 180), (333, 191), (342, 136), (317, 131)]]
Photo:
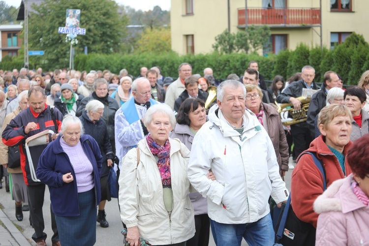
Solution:
[(149, 145), (151, 153), (157, 155), (159, 160), (157, 161), (157, 168), (160, 172), (161, 183), (163, 185), (172, 184), (170, 176), (170, 143), (169, 139), (165, 142), (164, 146), (161, 146), (151, 138), (150, 134), (146, 137), (146, 142)]

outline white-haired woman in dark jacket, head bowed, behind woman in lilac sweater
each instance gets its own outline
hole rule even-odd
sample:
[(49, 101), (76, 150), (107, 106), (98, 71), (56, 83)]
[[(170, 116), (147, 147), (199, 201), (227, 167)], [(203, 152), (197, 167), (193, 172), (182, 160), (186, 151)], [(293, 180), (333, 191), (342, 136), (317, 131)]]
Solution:
[(85, 128), (86, 134), (89, 134), (94, 140), (96, 140), (102, 155), (100, 176), (101, 201), (98, 205), (97, 222), (100, 223), (101, 227), (108, 227), (109, 223), (106, 221), (105, 203), (106, 200), (111, 200), (108, 174), (109, 169), (113, 167), (115, 154), (113, 153), (112, 146), (109, 141), (106, 123), (104, 120), (100, 120), (103, 116), (103, 112), (104, 104), (98, 100), (91, 100), (87, 103), (86, 110), (82, 113), (82, 116), (80, 116), (79, 119)]

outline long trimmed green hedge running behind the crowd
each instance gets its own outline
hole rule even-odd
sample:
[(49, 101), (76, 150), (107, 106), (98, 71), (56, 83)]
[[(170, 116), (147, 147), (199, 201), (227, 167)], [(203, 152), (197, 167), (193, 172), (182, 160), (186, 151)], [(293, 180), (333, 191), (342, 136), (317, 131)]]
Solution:
[[(178, 77), (178, 66), (182, 62), (192, 65), (192, 74), (203, 74), (203, 69), (212, 67), (215, 78), (225, 79), (228, 74), (243, 75), (249, 61), (259, 63), (259, 71), (266, 80), (273, 80), (274, 76), (282, 75), (288, 79), (296, 72), (300, 72), (304, 65), (315, 68), (315, 81), (321, 83), (326, 71), (337, 72), (345, 84), (356, 85), (361, 74), (369, 69), (369, 44), (362, 35), (353, 33), (344, 43), (333, 50), (320, 47), (309, 48), (300, 44), (294, 51), (286, 50), (278, 55), (268, 56), (247, 55), (241, 53), (219, 55), (199, 54), (179, 56), (174, 52), (162, 54), (89, 54), (77, 55), (74, 58), (77, 70), (104, 70), (118, 74), (123, 68), (133, 76), (139, 75), (140, 67), (160, 66), (164, 76)], [(20, 62), (0, 62), (0, 69), (11, 70), (21, 68)]]

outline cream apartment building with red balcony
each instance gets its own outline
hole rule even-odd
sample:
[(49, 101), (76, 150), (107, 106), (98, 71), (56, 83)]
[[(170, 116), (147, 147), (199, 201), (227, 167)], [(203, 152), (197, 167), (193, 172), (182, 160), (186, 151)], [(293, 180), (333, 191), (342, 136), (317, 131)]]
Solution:
[(260, 54), (293, 50), (301, 42), (329, 48), (354, 31), (369, 41), (367, 9), (367, 0), (172, 0), (172, 49), (210, 53), (216, 35), (245, 31), (246, 24), (271, 29), (271, 48)]

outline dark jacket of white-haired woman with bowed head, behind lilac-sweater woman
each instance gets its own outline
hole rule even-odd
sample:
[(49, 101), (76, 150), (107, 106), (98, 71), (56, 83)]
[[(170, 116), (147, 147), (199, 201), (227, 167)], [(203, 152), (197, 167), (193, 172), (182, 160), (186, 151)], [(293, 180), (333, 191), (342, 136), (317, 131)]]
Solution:
[(99, 121), (91, 121), (86, 111), (83, 111), (82, 116), (79, 117), (82, 122), (85, 134), (92, 136), (99, 145), (102, 155), (102, 168), (101, 177), (108, 175), (109, 169), (107, 166), (107, 159), (113, 159), (114, 154), (107, 154), (112, 152), (112, 146), (109, 141), (108, 127), (104, 119), (100, 118)]

